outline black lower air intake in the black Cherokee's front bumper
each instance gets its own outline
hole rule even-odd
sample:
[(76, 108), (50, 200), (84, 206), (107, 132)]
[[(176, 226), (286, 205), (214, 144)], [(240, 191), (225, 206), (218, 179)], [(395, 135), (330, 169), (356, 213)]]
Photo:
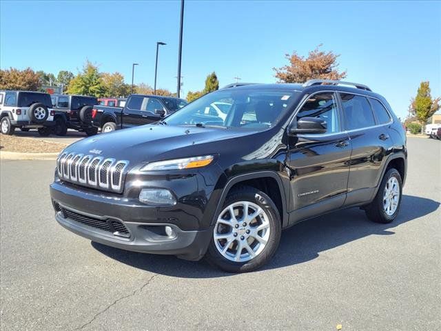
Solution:
[(96, 219), (94, 217), (85, 216), (83, 214), (73, 212), (72, 210), (65, 209), (61, 207), (58, 203), (55, 208), (63, 214), (63, 217), (65, 219), (70, 219), (70, 221), (81, 223), (83, 225), (88, 225), (92, 228), (96, 228), (105, 232), (111, 232), (112, 234), (119, 237), (130, 237), (130, 232), (129, 230), (127, 230), (125, 225), (120, 221), (116, 221), (115, 219)]

